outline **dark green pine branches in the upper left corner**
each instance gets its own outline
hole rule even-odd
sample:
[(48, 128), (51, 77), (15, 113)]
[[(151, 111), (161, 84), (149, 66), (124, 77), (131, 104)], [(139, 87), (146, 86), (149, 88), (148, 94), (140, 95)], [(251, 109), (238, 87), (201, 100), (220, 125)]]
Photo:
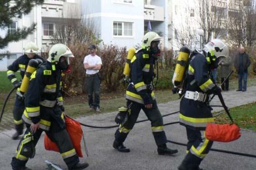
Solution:
[[(0, 29), (6, 29), (14, 17), (21, 18), (22, 14), (29, 14), (35, 4), (42, 5), (44, 0), (0, 0)], [(0, 49), (9, 42), (25, 39), (36, 29), (36, 23), (29, 27), (17, 28), (15, 32), (7, 32), (0, 37)]]

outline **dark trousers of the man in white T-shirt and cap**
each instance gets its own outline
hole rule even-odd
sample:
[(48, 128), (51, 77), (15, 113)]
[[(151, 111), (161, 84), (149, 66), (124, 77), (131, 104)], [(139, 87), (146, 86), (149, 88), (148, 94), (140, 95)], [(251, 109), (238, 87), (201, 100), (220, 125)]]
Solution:
[[(100, 107), (100, 78), (98, 74), (86, 76), (86, 88), (89, 106)], [(94, 100), (93, 100), (94, 93)]]

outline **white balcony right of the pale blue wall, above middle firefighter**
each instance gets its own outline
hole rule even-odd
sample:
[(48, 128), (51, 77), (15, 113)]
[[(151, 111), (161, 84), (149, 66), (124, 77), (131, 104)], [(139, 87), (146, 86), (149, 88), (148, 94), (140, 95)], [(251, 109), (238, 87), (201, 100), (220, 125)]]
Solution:
[(155, 5), (144, 5), (144, 20), (164, 21), (164, 8)]

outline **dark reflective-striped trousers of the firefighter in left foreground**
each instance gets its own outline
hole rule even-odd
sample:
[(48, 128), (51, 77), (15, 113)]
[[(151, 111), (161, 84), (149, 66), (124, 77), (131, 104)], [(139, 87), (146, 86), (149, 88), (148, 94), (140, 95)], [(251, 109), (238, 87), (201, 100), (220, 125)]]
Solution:
[[(11, 165), (13, 170), (19, 170), (19, 168), (25, 167), (28, 158), (32, 156), (31, 148), (36, 146), (43, 132), (42, 129), (38, 129), (36, 133), (33, 134), (33, 141), (27, 142), (26, 140), (28, 140), (28, 138), (26, 138), (26, 136), (30, 134), (29, 127), (30, 125), (27, 124), (27, 130), (25, 131), (24, 136), (20, 140), (17, 147), (16, 156), (12, 159)], [(73, 144), (66, 129), (62, 129), (59, 132), (53, 132), (50, 129), (49, 131), (45, 131), (45, 133), (52, 142), (56, 143), (59, 152), (61, 153), (62, 158), (69, 169), (71, 169), (79, 162), (79, 158), (76, 155), (76, 151), (73, 147)]]

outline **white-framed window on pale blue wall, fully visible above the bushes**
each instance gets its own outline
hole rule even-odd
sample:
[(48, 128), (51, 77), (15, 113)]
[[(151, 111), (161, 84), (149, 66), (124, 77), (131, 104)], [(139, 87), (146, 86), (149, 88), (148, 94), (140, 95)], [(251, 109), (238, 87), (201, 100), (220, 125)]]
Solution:
[(113, 36), (133, 36), (133, 23), (129, 22), (113, 22)]

